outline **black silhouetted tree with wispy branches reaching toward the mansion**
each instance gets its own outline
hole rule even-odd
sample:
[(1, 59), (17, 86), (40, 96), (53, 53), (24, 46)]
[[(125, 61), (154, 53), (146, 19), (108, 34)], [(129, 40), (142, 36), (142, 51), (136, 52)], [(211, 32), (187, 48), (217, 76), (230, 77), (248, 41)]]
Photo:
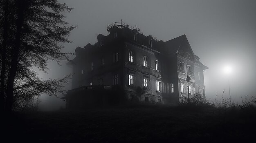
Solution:
[[(11, 111), (13, 103), (17, 106), (42, 92), (48, 95), (63, 92), (60, 88), (70, 76), (60, 80), (43, 80), (37, 77), (33, 67), (47, 73), (48, 60), (54, 60), (58, 64), (60, 60), (68, 60), (70, 53), (63, 53), (61, 49), (64, 46), (60, 43), (70, 43), (66, 36), (75, 28), (67, 26), (68, 23), (63, 20), (63, 14), (70, 12), (72, 8), (59, 4), (57, 0), (9, 0), (9, 3), (12, 6), (9, 6), (8, 13), (13, 15), (7, 20), (10, 23), (7, 29), (9, 44), (4, 58), (7, 62), (2, 64), (1, 61), (1, 69), (6, 65), (5, 72), (1, 70), (1, 75), (8, 71), (1, 78), (1, 85), (6, 84), (2, 80), (7, 82), (4, 87), (7, 111)], [(1, 33), (2, 31), (4, 29), (1, 29)], [(4, 35), (1, 34), (2, 39)]]

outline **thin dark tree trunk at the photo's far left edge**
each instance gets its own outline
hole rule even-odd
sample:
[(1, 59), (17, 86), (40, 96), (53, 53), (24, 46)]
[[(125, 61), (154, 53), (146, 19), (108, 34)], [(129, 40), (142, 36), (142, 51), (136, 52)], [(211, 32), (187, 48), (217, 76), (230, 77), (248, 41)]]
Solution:
[(8, 31), (8, 5), (9, 0), (5, 0), (4, 8), (4, 41), (2, 46), (2, 63), (1, 63), (1, 85), (0, 85), (0, 111), (4, 110), (4, 79), (5, 79), (5, 59), (6, 59), (6, 43), (7, 43), (7, 31)]

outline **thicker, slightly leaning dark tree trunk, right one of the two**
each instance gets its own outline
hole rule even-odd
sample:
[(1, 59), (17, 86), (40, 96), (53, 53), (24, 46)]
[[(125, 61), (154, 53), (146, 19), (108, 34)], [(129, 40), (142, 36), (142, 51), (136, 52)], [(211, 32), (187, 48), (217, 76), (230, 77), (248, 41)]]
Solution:
[(18, 67), (18, 57), (20, 50), (20, 37), (24, 21), (24, 9), (25, 9), (25, 0), (18, 0), (16, 3), (17, 7), (17, 21), (16, 21), (16, 35), (15, 35), (15, 45), (12, 48), (11, 55), (11, 66), (9, 68), (9, 76), (7, 80), (7, 97), (6, 97), (6, 110), (11, 112), (13, 104), (13, 84), (14, 79), (17, 73)]

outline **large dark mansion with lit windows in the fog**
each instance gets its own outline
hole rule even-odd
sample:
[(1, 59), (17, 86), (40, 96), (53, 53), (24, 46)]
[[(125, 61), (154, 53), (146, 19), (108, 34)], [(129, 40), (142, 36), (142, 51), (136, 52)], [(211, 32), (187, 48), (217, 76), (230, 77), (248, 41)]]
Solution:
[[(204, 70), (208, 67), (193, 53), (186, 35), (157, 41), (123, 22), (108, 25), (107, 31), (107, 36), (97, 36), (94, 45), (76, 48), (70, 63), (72, 90), (63, 97), (67, 108), (83, 107), (92, 102), (89, 97), (94, 92), (115, 86), (124, 91), (120, 96), (127, 100), (177, 103), (188, 93), (205, 98)], [(138, 94), (138, 89), (143, 92)]]

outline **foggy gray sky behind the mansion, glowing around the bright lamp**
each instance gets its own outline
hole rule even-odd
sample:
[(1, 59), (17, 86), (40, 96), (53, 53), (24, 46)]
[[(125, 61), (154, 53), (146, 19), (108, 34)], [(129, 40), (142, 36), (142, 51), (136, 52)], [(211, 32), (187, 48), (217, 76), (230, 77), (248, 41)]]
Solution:
[[(106, 26), (121, 19), (137, 26), (144, 35), (158, 40), (171, 40), (186, 34), (191, 48), (200, 61), (209, 67), (204, 71), (207, 98), (229, 98), (225, 65), (233, 70), (229, 77), (231, 98), (254, 95), (256, 85), (256, 0), (59, 0), (69, 7), (67, 22), (78, 25), (72, 31), (72, 44), (65, 44), (65, 52), (77, 46), (97, 42), (97, 33), (107, 35)], [(65, 63), (65, 62), (63, 62)], [(60, 78), (72, 72), (70, 68), (49, 63), (44, 78)], [(71, 86), (67, 86), (70, 89)], [(60, 99), (43, 96), (40, 108), (59, 108)]]

